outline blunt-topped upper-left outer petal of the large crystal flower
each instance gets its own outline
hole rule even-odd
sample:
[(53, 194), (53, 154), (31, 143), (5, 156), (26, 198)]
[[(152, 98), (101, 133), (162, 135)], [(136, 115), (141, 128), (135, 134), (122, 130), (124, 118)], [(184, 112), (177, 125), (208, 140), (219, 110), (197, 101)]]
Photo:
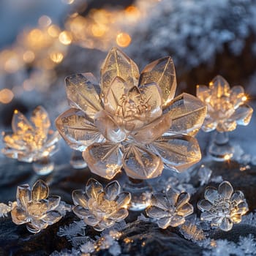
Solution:
[(94, 118), (95, 113), (102, 110), (99, 86), (94, 75), (91, 73), (71, 75), (65, 81), (70, 105), (83, 110), (90, 118)]

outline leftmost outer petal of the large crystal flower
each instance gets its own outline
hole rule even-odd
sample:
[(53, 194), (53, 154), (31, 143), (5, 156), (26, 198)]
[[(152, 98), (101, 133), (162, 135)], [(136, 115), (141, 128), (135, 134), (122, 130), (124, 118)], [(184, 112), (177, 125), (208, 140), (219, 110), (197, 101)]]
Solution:
[(71, 108), (56, 118), (56, 127), (71, 148), (84, 151), (94, 142), (104, 137), (84, 115), (83, 111)]

